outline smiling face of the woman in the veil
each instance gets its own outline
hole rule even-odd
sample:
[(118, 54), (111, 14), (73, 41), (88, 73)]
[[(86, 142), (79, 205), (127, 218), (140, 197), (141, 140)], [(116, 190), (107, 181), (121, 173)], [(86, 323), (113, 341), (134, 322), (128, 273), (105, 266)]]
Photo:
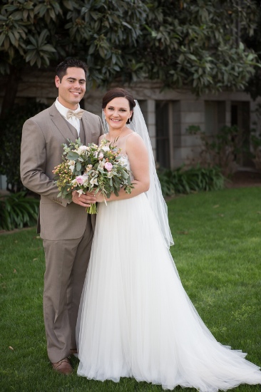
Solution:
[(111, 129), (118, 130), (123, 128), (132, 115), (128, 99), (123, 97), (113, 98), (106, 105), (104, 114)]

